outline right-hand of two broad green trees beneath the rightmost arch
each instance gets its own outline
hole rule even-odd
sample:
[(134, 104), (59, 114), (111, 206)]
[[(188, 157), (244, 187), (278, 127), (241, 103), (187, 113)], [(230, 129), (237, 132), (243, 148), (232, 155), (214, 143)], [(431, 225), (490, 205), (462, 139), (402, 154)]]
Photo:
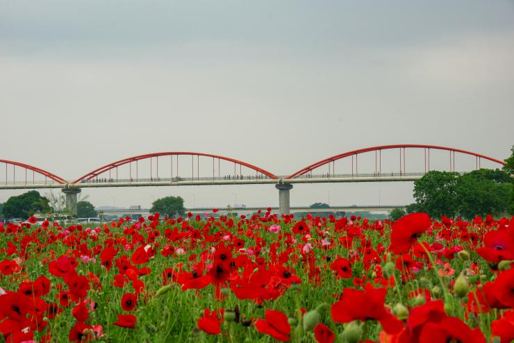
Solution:
[[(501, 215), (508, 212), (511, 205), (513, 184), (497, 169), (481, 169), (458, 178), (458, 215), (472, 219), (476, 215)], [(502, 181), (502, 182), (500, 182)]]

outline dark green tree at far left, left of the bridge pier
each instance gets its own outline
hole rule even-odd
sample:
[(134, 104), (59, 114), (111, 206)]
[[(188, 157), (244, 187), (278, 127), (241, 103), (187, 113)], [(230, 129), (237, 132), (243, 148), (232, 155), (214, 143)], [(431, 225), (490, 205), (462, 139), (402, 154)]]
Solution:
[(48, 199), (38, 191), (31, 190), (19, 196), (11, 196), (3, 204), (3, 215), (7, 218), (28, 218), (35, 212), (50, 212)]

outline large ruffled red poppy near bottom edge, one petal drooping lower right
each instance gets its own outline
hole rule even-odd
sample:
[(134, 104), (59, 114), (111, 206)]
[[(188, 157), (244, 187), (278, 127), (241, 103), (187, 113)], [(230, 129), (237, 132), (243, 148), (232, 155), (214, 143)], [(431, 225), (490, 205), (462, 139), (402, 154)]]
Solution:
[(331, 308), (332, 319), (337, 323), (348, 323), (356, 319), (379, 321), (386, 333), (398, 333), (404, 324), (384, 307), (387, 290), (374, 288), (370, 283), (365, 291), (345, 288), (341, 299)]

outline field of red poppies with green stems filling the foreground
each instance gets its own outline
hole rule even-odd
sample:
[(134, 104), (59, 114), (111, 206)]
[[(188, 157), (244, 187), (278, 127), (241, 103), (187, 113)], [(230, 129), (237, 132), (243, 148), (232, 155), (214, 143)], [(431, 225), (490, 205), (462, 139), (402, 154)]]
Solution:
[(216, 212), (0, 224), (0, 342), (514, 340), (514, 217)]

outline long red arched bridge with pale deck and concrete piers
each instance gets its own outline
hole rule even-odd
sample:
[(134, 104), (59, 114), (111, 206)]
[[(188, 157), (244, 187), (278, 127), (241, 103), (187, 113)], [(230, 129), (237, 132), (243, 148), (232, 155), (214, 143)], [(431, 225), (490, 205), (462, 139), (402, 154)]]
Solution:
[[(406, 151), (414, 163), (406, 164)], [(66, 194), (68, 210), (76, 213), (77, 194), (82, 188), (272, 183), (279, 190), (279, 212), (288, 214), (289, 191), (294, 183), (415, 181), (430, 170), (456, 171), (456, 153), (465, 156), (459, 157), (459, 163), (464, 165), (465, 160), (467, 169), (480, 169), (482, 162), (495, 167), (505, 165), (504, 161), (472, 151), (424, 144), (394, 144), (347, 151), (293, 174), (275, 175), (233, 158), (172, 151), (124, 158), (89, 171), (73, 181), (32, 165), (0, 160), (0, 189), (61, 188)], [(388, 162), (388, 170), (383, 158)], [(5, 168), (1, 168), (2, 164)]]

